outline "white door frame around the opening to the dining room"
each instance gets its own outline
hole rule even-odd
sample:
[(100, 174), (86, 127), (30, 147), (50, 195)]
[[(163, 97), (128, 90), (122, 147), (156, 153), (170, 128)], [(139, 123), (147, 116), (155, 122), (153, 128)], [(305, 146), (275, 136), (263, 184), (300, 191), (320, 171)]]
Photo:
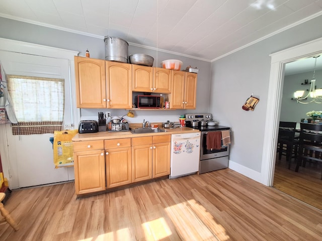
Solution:
[(262, 156), (262, 183), (273, 186), (278, 123), (280, 119), (285, 64), (301, 58), (315, 56), (322, 52), (322, 38), (300, 44), (273, 54), (271, 56), (271, 73), (269, 80), (264, 147)]

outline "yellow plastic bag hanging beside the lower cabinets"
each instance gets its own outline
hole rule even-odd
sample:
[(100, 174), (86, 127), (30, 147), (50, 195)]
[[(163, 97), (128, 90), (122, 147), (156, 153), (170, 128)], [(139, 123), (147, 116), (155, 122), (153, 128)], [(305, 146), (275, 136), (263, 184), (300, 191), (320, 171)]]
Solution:
[(78, 130), (54, 132), (53, 149), (55, 168), (74, 165), (71, 139), (77, 134), (77, 132)]

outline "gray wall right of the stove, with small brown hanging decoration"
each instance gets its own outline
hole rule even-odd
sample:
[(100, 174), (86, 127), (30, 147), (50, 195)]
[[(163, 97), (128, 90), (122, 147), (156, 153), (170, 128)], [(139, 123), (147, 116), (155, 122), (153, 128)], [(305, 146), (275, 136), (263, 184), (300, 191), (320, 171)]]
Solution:
[[(316, 31), (321, 22), (319, 16), (211, 64), (209, 111), (218, 116), (220, 124), (232, 128), (231, 163), (261, 172), (269, 54), (322, 37)], [(252, 93), (260, 98), (255, 110), (241, 109)]]

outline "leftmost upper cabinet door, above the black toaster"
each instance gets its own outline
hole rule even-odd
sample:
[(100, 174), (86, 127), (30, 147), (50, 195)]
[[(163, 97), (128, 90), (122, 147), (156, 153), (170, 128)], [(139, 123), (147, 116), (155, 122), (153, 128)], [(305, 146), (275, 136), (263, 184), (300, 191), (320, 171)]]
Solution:
[(76, 106), (106, 108), (105, 60), (74, 57)]

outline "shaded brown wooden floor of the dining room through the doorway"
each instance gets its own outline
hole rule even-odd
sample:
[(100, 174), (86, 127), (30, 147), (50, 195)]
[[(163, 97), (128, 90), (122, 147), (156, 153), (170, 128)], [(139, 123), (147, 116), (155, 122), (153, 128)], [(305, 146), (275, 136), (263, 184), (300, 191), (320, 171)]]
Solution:
[(285, 192), (303, 202), (322, 210), (322, 162), (307, 163), (295, 172), (295, 161), (291, 168), (286, 168), (285, 157), (276, 161), (274, 184), (278, 190)]

